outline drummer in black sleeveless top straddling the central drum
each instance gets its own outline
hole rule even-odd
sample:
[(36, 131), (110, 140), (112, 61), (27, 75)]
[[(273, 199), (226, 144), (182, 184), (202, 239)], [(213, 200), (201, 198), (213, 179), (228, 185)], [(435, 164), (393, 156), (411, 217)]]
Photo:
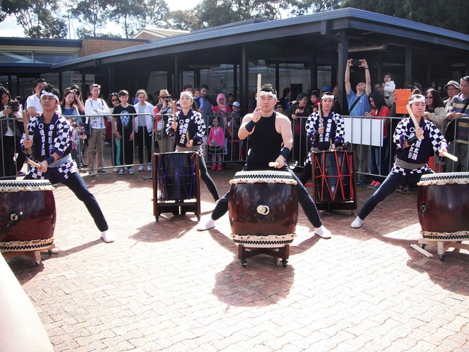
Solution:
[[(244, 116), (238, 131), (239, 139), (247, 138), (249, 145), (247, 162), (243, 170), (272, 170), (269, 162), (275, 161), (278, 163), (276, 169), (289, 171), (297, 181), (298, 203), (303, 208), (307, 219), (315, 227), (315, 234), (322, 238), (330, 238), (331, 234), (322, 226), (320, 215), (310, 194), (286, 164), (290, 149), (293, 147), (293, 134), (290, 120), (273, 110), (277, 102), (276, 90), (271, 84), (264, 84), (261, 86), (258, 99), (259, 107), (254, 110), (254, 113)], [(228, 211), (229, 198), (230, 191), (220, 198), (210, 219), (198, 227), (200, 231), (215, 227), (215, 220), (220, 219)]]

